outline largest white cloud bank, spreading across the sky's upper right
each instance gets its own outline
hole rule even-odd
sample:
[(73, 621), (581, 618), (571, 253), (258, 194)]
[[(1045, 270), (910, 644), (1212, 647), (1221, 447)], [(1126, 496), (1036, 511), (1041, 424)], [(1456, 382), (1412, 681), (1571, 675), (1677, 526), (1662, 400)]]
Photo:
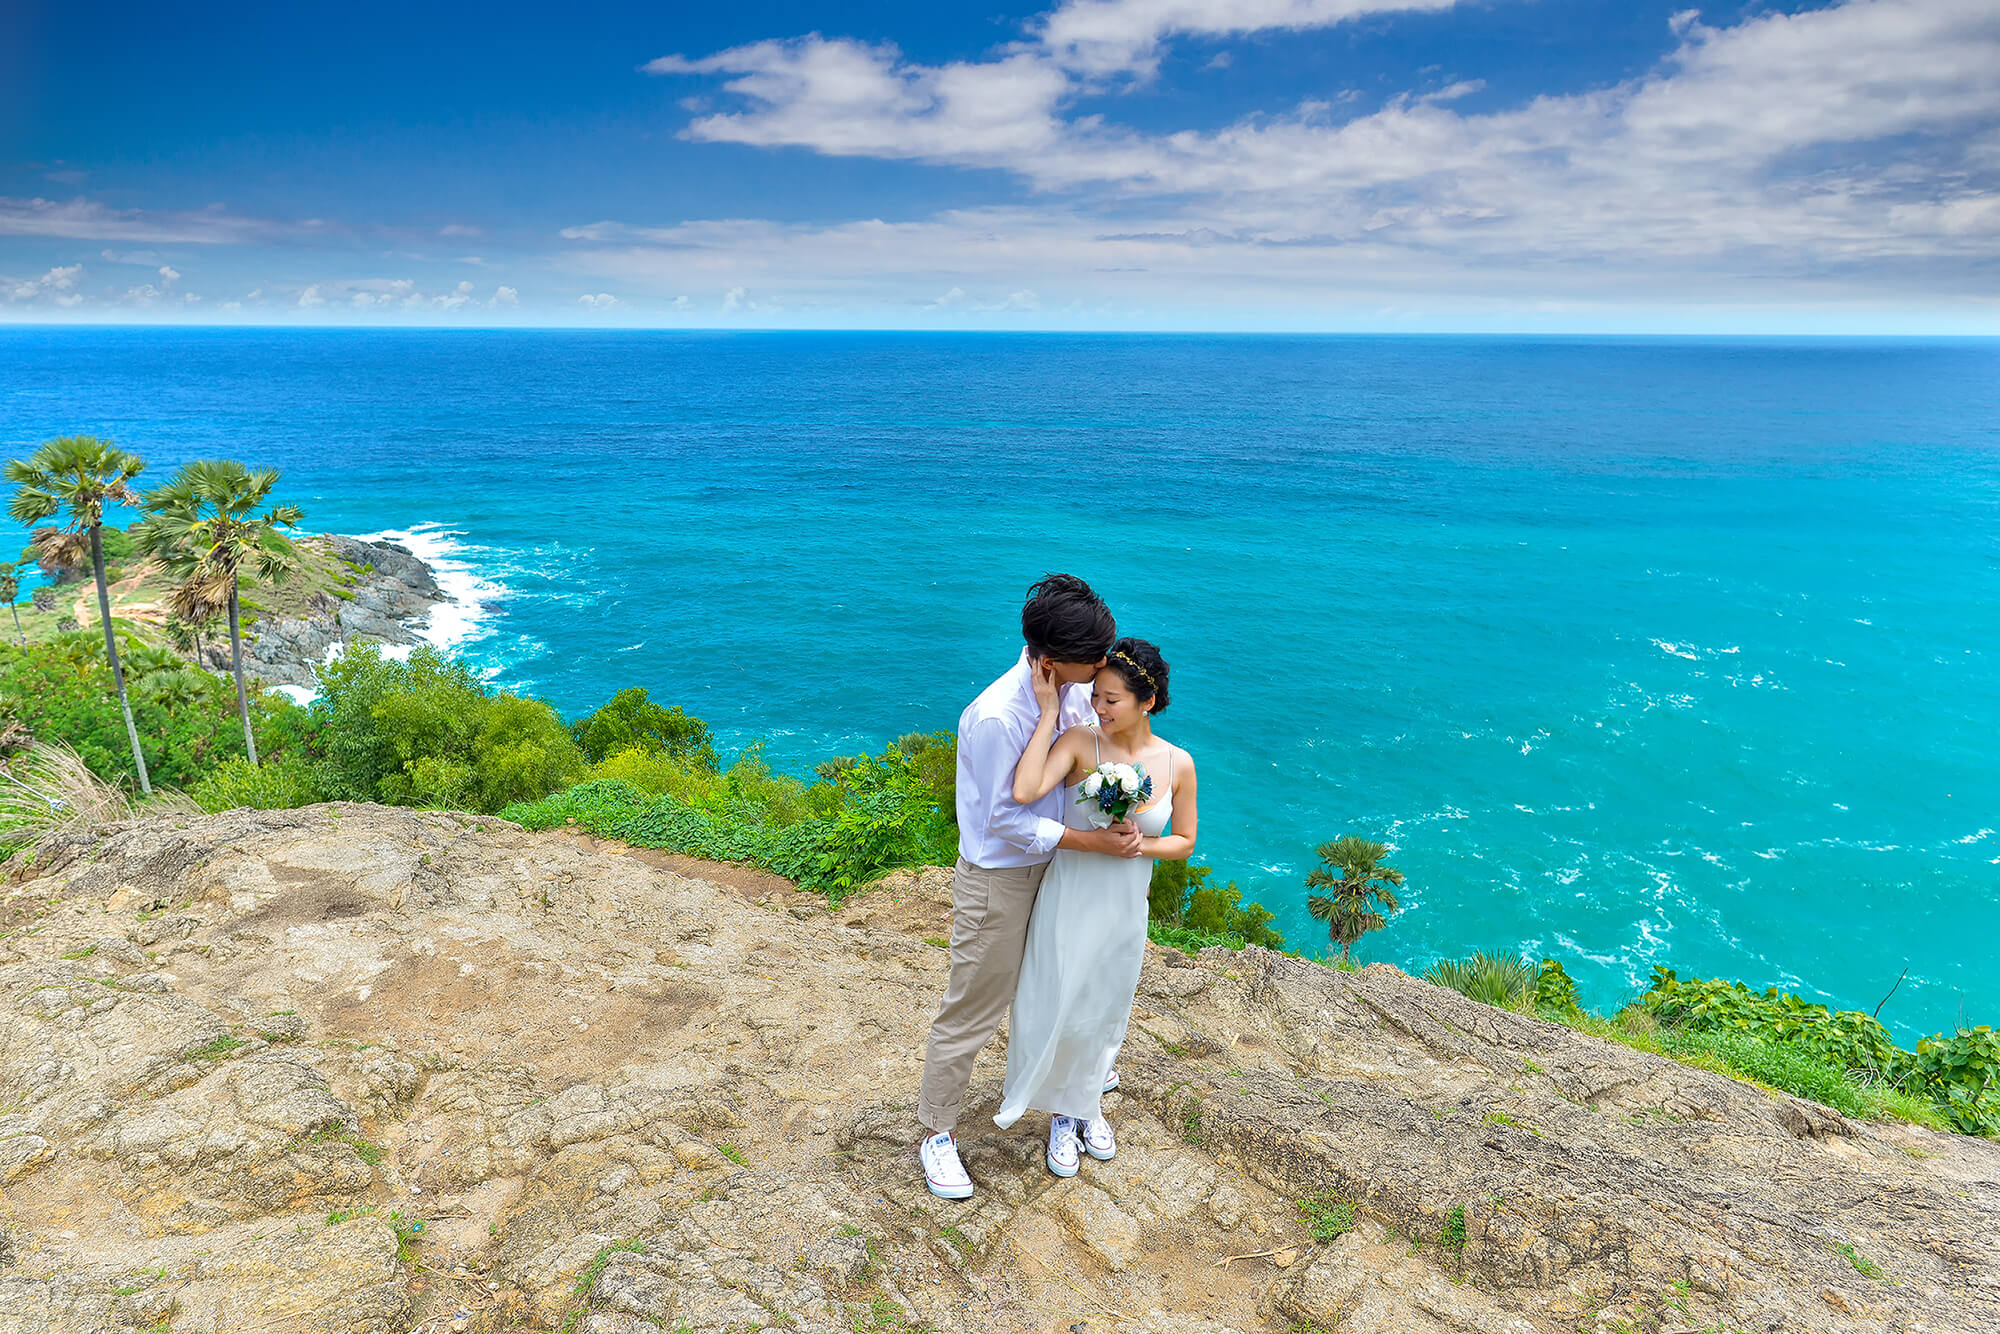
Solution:
[[(1502, 110), (1458, 110), (1476, 78), (1368, 114), (1344, 94), (1200, 130), (1118, 126), (1096, 112), (1104, 102), (1068, 110), (1080, 92), (1116, 92), (1102, 82), (1114, 74), (1148, 76), (1174, 34), (1384, 8), (1442, 0), (1070, 2), (1034, 40), (944, 66), (818, 34), (670, 56), (648, 68), (724, 74), (736, 98), (694, 118), (688, 138), (1002, 168), (1060, 202), (822, 228), (596, 222), (564, 238), (596, 246), (572, 264), (606, 276), (728, 272), (784, 292), (808, 284), (820, 300), (896, 284), (912, 304), (974, 282), (1126, 292), (1160, 274), (1248, 294), (1290, 280), (1288, 300), (1392, 282), (1674, 300), (1690, 280), (1956, 300), (1962, 260), (2000, 260), (1992, 0), (1850, 0), (1732, 28), (1688, 12), (1654, 70)], [(1154, 278), (1114, 276), (1132, 270)], [(938, 286), (918, 296), (918, 282)]]

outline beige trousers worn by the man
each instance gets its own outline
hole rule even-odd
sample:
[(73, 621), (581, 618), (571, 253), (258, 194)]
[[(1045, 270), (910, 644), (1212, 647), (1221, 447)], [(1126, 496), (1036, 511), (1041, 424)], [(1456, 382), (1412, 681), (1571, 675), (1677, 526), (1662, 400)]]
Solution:
[(972, 1060), (992, 1042), (1014, 1004), (1028, 918), (1046, 872), (1048, 862), (974, 866), (958, 858), (952, 876), (952, 980), (930, 1024), (924, 1088), (916, 1098), (916, 1118), (932, 1132), (958, 1128)]

